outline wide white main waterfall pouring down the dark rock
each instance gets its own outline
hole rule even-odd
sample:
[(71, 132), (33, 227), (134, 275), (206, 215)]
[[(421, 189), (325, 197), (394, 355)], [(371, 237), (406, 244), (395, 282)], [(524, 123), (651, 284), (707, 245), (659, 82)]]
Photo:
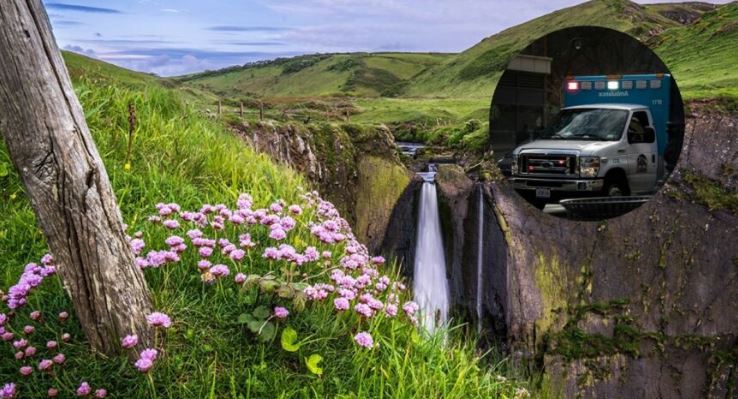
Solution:
[(420, 196), (418, 240), (415, 246), (413, 290), (420, 306), (421, 322), (432, 333), (448, 317), (448, 280), (443, 254), (441, 219), (438, 215), (435, 172), (421, 173), (425, 182)]

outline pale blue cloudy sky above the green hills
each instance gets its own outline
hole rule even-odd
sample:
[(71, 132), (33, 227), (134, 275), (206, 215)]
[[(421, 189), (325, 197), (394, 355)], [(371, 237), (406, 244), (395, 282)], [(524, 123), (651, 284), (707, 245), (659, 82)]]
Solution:
[(160, 76), (298, 54), (459, 52), (580, 2), (44, 0), (59, 47)]

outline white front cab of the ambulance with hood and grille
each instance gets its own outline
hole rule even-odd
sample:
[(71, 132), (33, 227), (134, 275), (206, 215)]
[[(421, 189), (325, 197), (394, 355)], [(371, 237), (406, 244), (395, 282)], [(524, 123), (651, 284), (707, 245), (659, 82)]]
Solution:
[[(658, 154), (649, 108), (592, 104), (563, 108), (560, 115), (590, 110), (627, 112), (619, 137), (615, 133), (606, 139), (554, 135), (520, 145), (513, 151), (511, 177), (518, 192), (547, 202), (554, 198), (648, 195), (656, 191), (663, 159)], [(621, 118), (624, 114), (617, 115)]]

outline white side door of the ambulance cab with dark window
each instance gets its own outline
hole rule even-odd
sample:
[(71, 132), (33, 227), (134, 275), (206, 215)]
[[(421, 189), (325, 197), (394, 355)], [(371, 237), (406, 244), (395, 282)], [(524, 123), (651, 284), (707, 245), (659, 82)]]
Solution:
[(657, 177), (656, 134), (645, 111), (633, 112), (627, 131), (628, 184), (632, 194), (655, 190)]

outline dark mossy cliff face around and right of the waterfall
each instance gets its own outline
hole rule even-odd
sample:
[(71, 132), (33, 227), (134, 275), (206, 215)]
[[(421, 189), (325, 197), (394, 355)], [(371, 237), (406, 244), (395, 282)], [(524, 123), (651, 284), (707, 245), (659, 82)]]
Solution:
[[(505, 182), (439, 169), (456, 316), (476, 319), (481, 245), (482, 331), (542, 369), (551, 391), (738, 397), (738, 117), (706, 109), (692, 111), (662, 192), (608, 221), (548, 216)], [(383, 245), (410, 277), (420, 184), (401, 196)]]

